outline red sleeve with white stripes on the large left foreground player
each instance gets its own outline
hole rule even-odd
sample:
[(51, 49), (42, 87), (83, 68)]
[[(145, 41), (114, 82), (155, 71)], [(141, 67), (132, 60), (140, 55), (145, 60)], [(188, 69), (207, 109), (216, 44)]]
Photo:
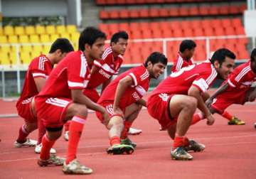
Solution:
[[(72, 57), (70, 57), (72, 58)], [(68, 87), (70, 89), (84, 89), (89, 82), (86, 79), (87, 62), (83, 55), (70, 59), (68, 63)]]

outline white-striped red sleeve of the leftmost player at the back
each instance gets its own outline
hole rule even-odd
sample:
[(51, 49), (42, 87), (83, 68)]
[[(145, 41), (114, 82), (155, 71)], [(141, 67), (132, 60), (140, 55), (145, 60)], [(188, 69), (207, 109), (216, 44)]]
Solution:
[(46, 62), (48, 59), (39, 57), (35, 58), (32, 63), (29, 65), (29, 70), (33, 76), (33, 78), (36, 77), (43, 77), (46, 78), (49, 74), (47, 71), (47, 65)]

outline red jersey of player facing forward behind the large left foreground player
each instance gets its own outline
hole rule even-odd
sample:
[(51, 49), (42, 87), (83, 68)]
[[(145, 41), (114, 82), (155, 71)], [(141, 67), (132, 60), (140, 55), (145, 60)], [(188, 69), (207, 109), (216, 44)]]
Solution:
[(102, 60), (94, 60), (93, 63), (98, 68), (97, 71), (91, 75), (91, 80), (87, 88), (96, 88), (106, 80), (109, 80), (112, 75), (117, 75), (122, 62), (122, 55), (118, 55), (117, 58), (114, 59), (112, 48), (107, 48), (102, 55)]

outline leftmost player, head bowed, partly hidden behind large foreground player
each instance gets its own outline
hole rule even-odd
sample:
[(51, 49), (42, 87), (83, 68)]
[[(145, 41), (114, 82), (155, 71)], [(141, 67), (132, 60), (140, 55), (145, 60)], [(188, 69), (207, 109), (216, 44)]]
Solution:
[[(46, 131), (45, 127), (36, 118), (33, 99), (45, 85), (51, 70), (53, 70), (53, 65), (59, 63), (67, 53), (73, 50), (73, 46), (68, 39), (58, 38), (51, 45), (48, 55), (40, 55), (34, 58), (28, 66), (21, 97), (16, 103), (18, 115), (25, 120), (25, 124), (18, 131), (18, 139), (14, 142), (15, 147), (36, 146), (36, 141), (27, 139), (27, 136), (38, 128), (38, 145), (35, 151), (36, 153), (41, 152), (41, 139)], [(56, 151), (51, 148), (51, 153), (56, 153)]]

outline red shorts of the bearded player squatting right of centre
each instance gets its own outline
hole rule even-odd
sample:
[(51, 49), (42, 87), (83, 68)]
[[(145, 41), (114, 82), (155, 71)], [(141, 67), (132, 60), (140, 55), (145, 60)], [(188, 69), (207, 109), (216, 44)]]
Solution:
[(173, 95), (168, 95), (165, 93), (156, 94), (149, 97), (146, 102), (146, 107), (149, 114), (154, 117), (154, 119), (159, 121), (163, 129), (168, 129), (169, 126), (176, 124), (176, 119), (171, 117), (169, 111), (169, 102)]

